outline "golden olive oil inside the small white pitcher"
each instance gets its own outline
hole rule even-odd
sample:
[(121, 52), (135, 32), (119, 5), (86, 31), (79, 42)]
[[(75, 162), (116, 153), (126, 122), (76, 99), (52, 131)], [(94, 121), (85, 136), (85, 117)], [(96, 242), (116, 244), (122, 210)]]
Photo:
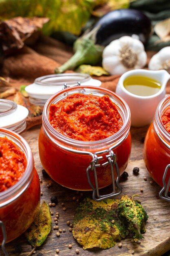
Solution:
[(151, 96), (159, 92), (161, 84), (146, 76), (129, 76), (124, 80), (124, 88), (138, 96)]

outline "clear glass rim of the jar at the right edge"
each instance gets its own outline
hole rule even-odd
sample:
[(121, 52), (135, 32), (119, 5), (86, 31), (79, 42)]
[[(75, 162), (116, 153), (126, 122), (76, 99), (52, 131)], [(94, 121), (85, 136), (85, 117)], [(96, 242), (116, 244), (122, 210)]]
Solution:
[(170, 106), (170, 95), (165, 97), (160, 101), (157, 106), (155, 117), (153, 120), (153, 126), (155, 128), (155, 132), (157, 133), (159, 139), (165, 144), (168, 148), (170, 148), (170, 133), (166, 130), (165, 126), (162, 123), (161, 117), (165, 109)]

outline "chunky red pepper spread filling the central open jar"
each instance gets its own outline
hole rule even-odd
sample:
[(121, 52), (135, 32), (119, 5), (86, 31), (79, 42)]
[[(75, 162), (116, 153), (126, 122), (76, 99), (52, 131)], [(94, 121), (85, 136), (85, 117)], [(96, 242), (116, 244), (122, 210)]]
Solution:
[(71, 139), (97, 141), (112, 136), (123, 125), (108, 95), (72, 94), (50, 106), (49, 121), (57, 132)]

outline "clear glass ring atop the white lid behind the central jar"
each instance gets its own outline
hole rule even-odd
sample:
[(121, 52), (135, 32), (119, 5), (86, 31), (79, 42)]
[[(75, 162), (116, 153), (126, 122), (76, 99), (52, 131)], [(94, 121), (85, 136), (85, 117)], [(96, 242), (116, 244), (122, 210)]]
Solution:
[[(67, 76), (68, 76), (68, 79), (66, 79)], [(73, 79), (74, 76), (77, 76), (77, 78), (79, 79)], [(57, 86), (57, 85), (64, 85), (64, 83), (68, 82), (68, 85), (74, 85), (78, 81), (80, 83), (84, 83), (86, 81), (89, 81), (90, 79), (91, 79), (91, 76), (88, 74), (64, 73), (64, 74), (51, 74), (46, 76), (40, 76), (35, 79), (34, 83), (36, 83), (37, 85), (43, 85), (43, 86)]]

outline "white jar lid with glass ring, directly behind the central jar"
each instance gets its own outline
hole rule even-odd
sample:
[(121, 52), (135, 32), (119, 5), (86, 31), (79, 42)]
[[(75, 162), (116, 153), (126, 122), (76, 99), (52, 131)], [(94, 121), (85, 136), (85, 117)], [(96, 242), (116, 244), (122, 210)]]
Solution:
[(88, 74), (64, 73), (38, 77), (34, 83), (26, 86), (25, 90), (29, 94), (29, 101), (31, 103), (44, 106), (53, 94), (64, 88), (64, 83), (67, 86), (74, 86), (78, 82), (80, 85), (101, 85), (101, 81), (92, 79)]

